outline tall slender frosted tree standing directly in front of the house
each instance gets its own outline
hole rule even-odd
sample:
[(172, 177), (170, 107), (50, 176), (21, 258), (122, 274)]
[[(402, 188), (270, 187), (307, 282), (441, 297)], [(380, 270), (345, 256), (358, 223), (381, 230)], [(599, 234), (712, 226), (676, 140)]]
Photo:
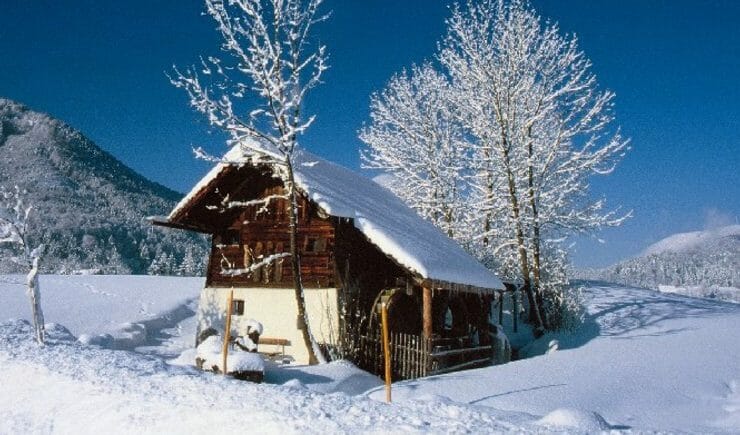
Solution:
[[(304, 113), (306, 94), (321, 82), (326, 50), (311, 36), (322, 0), (206, 0), (223, 39), (222, 58), (201, 59), (199, 66), (175, 69), (172, 83), (183, 88), (190, 105), (239, 147), (242, 159), (272, 165), (285, 186), (296, 304), (311, 362), (323, 361), (305, 308), (296, 241), (298, 192), (293, 156), (299, 136), (313, 116)], [(272, 197), (271, 199), (274, 199)], [(244, 204), (230, 203), (229, 206)], [(280, 256), (272, 256), (278, 260)], [(255, 263), (254, 267), (264, 264)], [(251, 270), (244, 270), (249, 273)]]

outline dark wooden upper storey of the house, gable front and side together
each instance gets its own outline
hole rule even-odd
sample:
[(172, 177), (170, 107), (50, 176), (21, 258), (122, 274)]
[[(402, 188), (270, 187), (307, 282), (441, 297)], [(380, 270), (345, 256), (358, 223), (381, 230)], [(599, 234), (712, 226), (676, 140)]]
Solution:
[[(250, 273), (234, 273), (267, 256), (290, 251), (288, 201), (265, 206), (230, 203), (283, 195), (282, 181), (266, 165), (225, 167), (170, 219), (170, 226), (212, 234), (207, 286), (293, 287), (290, 257)], [(307, 288), (354, 287), (374, 298), (410, 274), (381, 252), (351, 220), (327, 216), (314, 202), (298, 201), (301, 278)], [(343, 283), (351, 277), (352, 283)], [(351, 290), (350, 290), (351, 291)], [(367, 301), (365, 301), (367, 302)]]

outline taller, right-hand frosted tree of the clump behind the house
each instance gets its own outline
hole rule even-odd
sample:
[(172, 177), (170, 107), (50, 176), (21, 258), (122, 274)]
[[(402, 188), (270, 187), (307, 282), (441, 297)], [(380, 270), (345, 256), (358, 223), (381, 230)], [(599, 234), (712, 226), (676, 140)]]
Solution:
[(614, 94), (598, 89), (577, 39), (543, 23), (525, 0), (468, 2), (447, 26), (439, 60), (460, 91), (482, 215), (506, 211), (506, 231), (491, 231), (493, 249), (515, 249), (531, 320), (544, 325), (544, 237), (625, 218), (588, 199), (589, 178), (610, 173), (627, 147), (612, 127)]

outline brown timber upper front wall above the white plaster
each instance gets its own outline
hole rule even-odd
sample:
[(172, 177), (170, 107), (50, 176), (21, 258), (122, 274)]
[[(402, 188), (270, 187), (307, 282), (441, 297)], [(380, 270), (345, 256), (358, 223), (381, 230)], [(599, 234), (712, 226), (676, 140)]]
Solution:
[[(283, 195), (282, 186), (266, 186), (258, 198)], [(244, 269), (269, 255), (290, 252), (289, 202), (272, 199), (266, 206), (250, 205), (240, 210), (224, 231), (213, 235), (207, 286), (293, 287), (289, 256), (250, 274), (229, 276), (224, 271)], [(298, 237), (301, 278), (306, 288), (333, 287), (334, 225), (319, 216), (305, 198), (298, 202)]]

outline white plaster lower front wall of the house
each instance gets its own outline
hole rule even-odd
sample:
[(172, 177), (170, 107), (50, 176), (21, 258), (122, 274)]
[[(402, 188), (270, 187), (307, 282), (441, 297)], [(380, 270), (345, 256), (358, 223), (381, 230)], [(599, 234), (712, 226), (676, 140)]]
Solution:
[[(212, 327), (223, 334), (230, 291), (231, 288), (221, 287), (203, 289), (198, 309), (198, 331)], [(304, 294), (308, 320), (316, 340), (335, 344), (339, 331), (337, 289), (305, 289)], [(264, 326), (263, 337), (290, 340), (291, 345), (285, 348), (286, 356), (297, 364), (308, 364), (308, 349), (297, 328), (298, 308), (293, 289), (234, 288), (234, 299), (244, 301), (244, 315), (232, 316), (232, 330), (246, 335), (245, 321), (257, 320)], [(261, 345), (260, 351), (263, 350), (279, 349)]]

